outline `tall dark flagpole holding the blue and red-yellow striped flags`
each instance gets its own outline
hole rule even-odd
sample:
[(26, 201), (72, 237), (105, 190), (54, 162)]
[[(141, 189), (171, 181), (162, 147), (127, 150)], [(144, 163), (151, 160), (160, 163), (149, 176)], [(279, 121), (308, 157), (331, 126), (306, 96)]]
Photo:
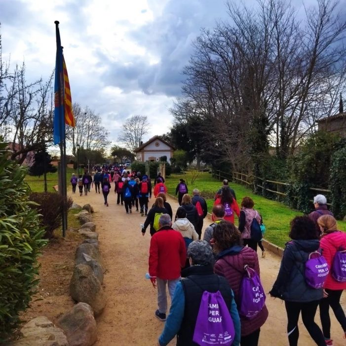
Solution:
[[(56, 50), (57, 55), (60, 50), (62, 50), (61, 42), (60, 42), (60, 33), (59, 33), (59, 21), (55, 21), (55, 33), (56, 33)], [(59, 39), (58, 39), (59, 37)], [(57, 56), (58, 59), (58, 56)], [(66, 236), (67, 229), (67, 187), (66, 187), (66, 141), (65, 141), (65, 116), (64, 116), (64, 103), (62, 102), (62, 87), (64, 85), (63, 81), (63, 68), (62, 61), (60, 62), (61, 66), (59, 66), (59, 88), (58, 88), (58, 104), (59, 104), (59, 119), (60, 119), (60, 183), (61, 187), (59, 189), (60, 194), (63, 197), (62, 202), (62, 226), (63, 226), (63, 237)]]

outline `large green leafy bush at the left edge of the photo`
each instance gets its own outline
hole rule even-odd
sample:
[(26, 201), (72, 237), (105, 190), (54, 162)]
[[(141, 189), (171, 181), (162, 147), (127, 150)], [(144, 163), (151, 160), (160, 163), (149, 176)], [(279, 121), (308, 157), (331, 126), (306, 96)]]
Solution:
[(28, 199), (26, 169), (9, 158), (0, 142), (0, 341), (17, 326), (38, 284), (37, 258), (46, 244)]

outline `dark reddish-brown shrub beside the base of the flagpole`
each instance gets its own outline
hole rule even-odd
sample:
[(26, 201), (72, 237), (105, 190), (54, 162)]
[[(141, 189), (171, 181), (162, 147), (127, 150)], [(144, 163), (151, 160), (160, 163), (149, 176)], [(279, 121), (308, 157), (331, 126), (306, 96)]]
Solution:
[[(40, 221), (45, 228), (45, 238), (52, 238), (54, 230), (61, 226), (62, 223), (62, 207), (63, 196), (56, 192), (33, 192), (29, 199), (37, 204), (32, 204), (32, 208), (36, 209), (41, 215)], [(66, 210), (72, 206), (73, 200), (67, 198)]]

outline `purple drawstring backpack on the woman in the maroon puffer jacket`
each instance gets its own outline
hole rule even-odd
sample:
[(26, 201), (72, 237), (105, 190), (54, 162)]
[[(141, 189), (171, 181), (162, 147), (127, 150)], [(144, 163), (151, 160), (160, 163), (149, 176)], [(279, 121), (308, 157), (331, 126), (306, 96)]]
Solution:
[(257, 272), (248, 265), (244, 266), (245, 274), (242, 278), (239, 300), (239, 314), (251, 319), (263, 309), (266, 303), (266, 294)]

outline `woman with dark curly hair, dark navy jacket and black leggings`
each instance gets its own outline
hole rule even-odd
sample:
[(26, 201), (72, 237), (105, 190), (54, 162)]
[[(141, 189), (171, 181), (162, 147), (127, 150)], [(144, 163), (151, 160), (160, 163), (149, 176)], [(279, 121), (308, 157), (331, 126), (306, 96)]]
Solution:
[(279, 273), (269, 293), (271, 297), (285, 301), (290, 346), (298, 345), (301, 312), (303, 323), (315, 344), (325, 346), (322, 331), (314, 321), (319, 301), (323, 298), (323, 288), (312, 288), (305, 277), (305, 263), (309, 254), (319, 248), (319, 234), (308, 216), (297, 216), (291, 221), (289, 237), (292, 240), (286, 243)]

